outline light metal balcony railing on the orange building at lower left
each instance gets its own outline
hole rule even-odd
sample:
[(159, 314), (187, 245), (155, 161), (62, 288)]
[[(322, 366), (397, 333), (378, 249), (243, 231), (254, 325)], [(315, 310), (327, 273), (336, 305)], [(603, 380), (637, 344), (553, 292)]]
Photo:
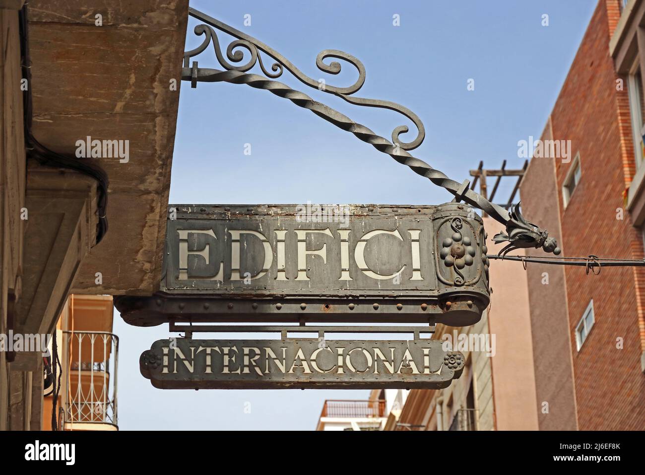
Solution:
[[(63, 428), (86, 424), (118, 427), (119, 338), (108, 332), (63, 332), (67, 350), (67, 394)], [(97, 427), (98, 428), (98, 427)]]

